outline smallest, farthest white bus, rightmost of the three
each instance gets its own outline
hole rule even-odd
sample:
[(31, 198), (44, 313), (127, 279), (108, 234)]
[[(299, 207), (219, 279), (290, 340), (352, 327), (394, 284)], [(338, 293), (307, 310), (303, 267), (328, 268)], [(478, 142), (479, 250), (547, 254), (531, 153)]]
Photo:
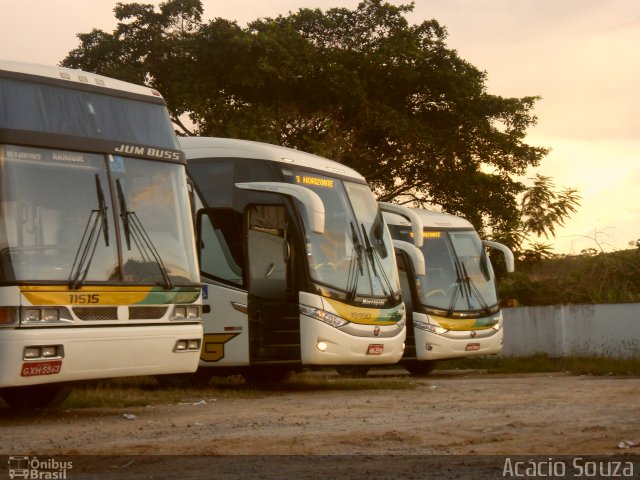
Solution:
[(407, 346), (400, 363), (420, 375), (430, 373), (438, 360), (499, 353), (502, 313), (485, 247), (504, 254), (508, 272), (514, 269), (513, 253), (500, 243), (480, 240), (464, 218), (411, 211), (422, 224), (419, 241), (415, 241), (415, 221), (384, 214), (394, 240), (415, 241), (422, 252), (420, 258), (396, 249), (408, 323)]

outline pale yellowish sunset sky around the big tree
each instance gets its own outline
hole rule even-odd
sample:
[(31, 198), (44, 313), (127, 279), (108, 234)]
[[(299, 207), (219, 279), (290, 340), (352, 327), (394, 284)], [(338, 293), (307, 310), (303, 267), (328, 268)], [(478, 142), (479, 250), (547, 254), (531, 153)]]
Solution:
[[(159, 1), (138, 0), (139, 3)], [(408, 0), (388, 0), (394, 5)], [(125, 2), (127, 3), (127, 2)], [(204, 19), (240, 25), (300, 8), (354, 9), (359, 0), (202, 0)], [(540, 96), (525, 142), (551, 149), (539, 173), (576, 188), (581, 206), (555, 253), (631, 248), (640, 239), (640, 2), (415, 0), (411, 23), (436, 19), (447, 45), (487, 73), (503, 97)], [(0, 59), (58, 64), (78, 33), (112, 32), (116, 0), (0, 0)]]

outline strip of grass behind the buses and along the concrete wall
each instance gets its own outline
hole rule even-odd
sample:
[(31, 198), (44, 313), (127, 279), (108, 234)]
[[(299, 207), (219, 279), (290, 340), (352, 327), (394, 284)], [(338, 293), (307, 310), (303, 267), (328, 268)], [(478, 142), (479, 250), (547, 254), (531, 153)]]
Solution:
[[(472, 357), (441, 361), (437, 369), (484, 370), (489, 374), (567, 372), (574, 375), (640, 376), (640, 358), (614, 359), (596, 356), (555, 358), (544, 354), (530, 357)], [(102, 380), (78, 386), (61, 408), (126, 408), (197, 402), (203, 399), (206, 401), (211, 398), (263, 398), (284, 395), (288, 392), (416, 388), (417, 383), (414, 377), (406, 374), (376, 375), (376, 370), (372, 369), (371, 373), (364, 378), (336, 377), (306, 372), (294, 374), (284, 382), (261, 386), (249, 384), (239, 375), (214, 377), (204, 387), (161, 388), (153, 377)]]

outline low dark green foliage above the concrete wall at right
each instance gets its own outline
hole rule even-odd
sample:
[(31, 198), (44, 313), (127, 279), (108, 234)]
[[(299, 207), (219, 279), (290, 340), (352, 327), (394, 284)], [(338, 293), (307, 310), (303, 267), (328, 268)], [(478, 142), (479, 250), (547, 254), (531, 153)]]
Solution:
[(519, 262), (500, 297), (529, 306), (640, 302), (640, 250)]

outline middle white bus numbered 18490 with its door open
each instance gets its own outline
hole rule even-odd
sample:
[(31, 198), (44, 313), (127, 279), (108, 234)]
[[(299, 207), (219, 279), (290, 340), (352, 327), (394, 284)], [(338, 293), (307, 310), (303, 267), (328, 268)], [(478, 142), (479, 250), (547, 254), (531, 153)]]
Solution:
[(400, 360), (393, 243), (364, 177), (264, 143), (180, 142), (196, 190), (205, 378)]

